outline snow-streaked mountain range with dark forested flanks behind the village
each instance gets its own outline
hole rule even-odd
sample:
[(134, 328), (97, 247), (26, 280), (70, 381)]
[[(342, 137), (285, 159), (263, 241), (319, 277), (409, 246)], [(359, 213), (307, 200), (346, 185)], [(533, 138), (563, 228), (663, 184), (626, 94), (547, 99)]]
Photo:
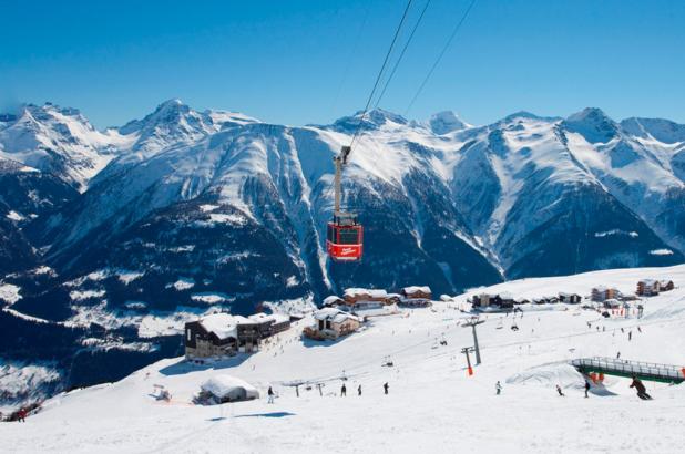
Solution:
[(330, 264), (331, 159), (360, 121), (284, 126), (178, 100), (104, 132), (53, 104), (0, 115), (0, 298), (16, 295), (0, 357), (54, 361), (73, 385), (176, 353), (172, 334), (207, 311), (683, 261), (685, 125), (375, 110), (344, 185), (365, 258)]

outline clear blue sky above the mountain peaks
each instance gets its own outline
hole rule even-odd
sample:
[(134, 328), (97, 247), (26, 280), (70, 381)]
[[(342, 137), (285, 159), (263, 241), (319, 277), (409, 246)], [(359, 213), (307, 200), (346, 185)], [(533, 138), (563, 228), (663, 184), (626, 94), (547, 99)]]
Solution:
[[(410, 23), (426, 0), (413, 0)], [(470, 0), (432, 0), (381, 106), (403, 113)], [(405, 0), (0, 0), (0, 110), (52, 101), (98, 127), (160, 102), (327, 123), (364, 106)], [(366, 23), (362, 27), (364, 18)], [(685, 2), (478, 0), (409, 112), (520, 110), (685, 123)]]

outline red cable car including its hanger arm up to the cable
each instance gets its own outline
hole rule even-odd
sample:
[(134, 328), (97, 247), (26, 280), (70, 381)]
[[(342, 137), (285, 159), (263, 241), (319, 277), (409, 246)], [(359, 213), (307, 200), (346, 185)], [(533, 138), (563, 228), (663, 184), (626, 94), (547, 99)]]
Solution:
[(336, 166), (335, 208), (333, 220), (327, 226), (326, 251), (334, 261), (358, 261), (362, 252), (364, 227), (356, 214), (340, 210), (343, 167), (347, 164), (350, 152), (351, 147), (344, 146), (340, 154), (333, 158)]

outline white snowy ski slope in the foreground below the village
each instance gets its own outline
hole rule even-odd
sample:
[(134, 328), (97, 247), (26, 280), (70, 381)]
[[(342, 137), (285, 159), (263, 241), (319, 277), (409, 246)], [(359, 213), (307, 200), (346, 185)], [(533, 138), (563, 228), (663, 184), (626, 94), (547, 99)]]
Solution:
[[(513, 331), (511, 316), (483, 316), (487, 321), (478, 328), (483, 363), (467, 375), (460, 350), (472, 338), (471, 329), (459, 326), (467, 317), (459, 309), (467, 308), (469, 295), (589, 295), (596, 285), (632, 292), (641, 278), (671, 279), (676, 288), (647, 299), (640, 320), (603, 319), (579, 306), (528, 306)], [(327, 343), (300, 340), (308, 322), (303, 320), (252, 357), (212, 367), (168, 359), (116, 383), (58, 395), (25, 424), (0, 424), (3, 452), (681, 453), (683, 385), (645, 382), (654, 398), (645, 402), (628, 389), (628, 380), (607, 376), (605, 389), (593, 388), (584, 399), (583, 378), (568, 361), (615, 358), (620, 351), (626, 360), (685, 367), (682, 282), (685, 266), (523, 279), (436, 302), (433, 309), (381, 317)], [(382, 365), (387, 358), (395, 367)], [(193, 405), (201, 383), (217, 374), (252, 383), (262, 399)], [(345, 398), (339, 396), (343, 375)], [(503, 386), (499, 396), (497, 381)], [(313, 386), (301, 385), (298, 398), (289, 386), (294, 382)], [(316, 383), (324, 385), (323, 396)], [(153, 398), (155, 384), (171, 392), (170, 403)], [(266, 403), (269, 385), (278, 394), (273, 405)]]

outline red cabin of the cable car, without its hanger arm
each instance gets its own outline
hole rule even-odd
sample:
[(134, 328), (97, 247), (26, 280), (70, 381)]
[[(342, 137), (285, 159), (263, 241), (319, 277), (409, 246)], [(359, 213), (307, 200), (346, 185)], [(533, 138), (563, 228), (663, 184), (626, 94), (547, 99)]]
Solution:
[(326, 250), (335, 261), (357, 261), (364, 251), (364, 227), (357, 215), (338, 213), (328, 223)]

